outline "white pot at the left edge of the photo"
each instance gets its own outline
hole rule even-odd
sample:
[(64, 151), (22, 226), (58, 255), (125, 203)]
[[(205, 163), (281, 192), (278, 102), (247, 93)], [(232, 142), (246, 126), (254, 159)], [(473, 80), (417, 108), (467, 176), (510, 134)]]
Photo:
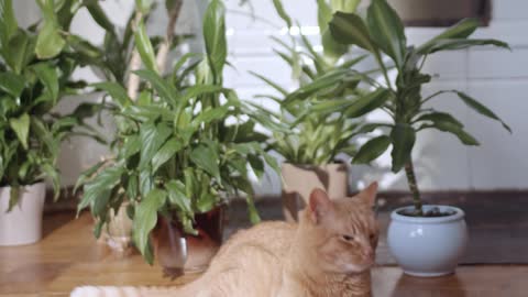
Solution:
[(0, 246), (37, 242), (42, 238), (42, 211), (46, 185), (37, 183), (20, 188), (19, 202), (10, 212), (11, 187), (0, 187)]

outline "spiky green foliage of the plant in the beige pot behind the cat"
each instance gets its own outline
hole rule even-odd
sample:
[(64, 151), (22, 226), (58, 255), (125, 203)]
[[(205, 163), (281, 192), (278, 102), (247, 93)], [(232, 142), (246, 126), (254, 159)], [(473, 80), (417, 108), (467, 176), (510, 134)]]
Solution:
[[(282, 2), (274, 0), (273, 3), (286, 26), (292, 29), (294, 23)], [(278, 92), (278, 96), (257, 96), (274, 100), (280, 107), (278, 112), (273, 112), (265, 107), (261, 109), (272, 119), (290, 127), (286, 133), (272, 129), (273, 138), (268, 143), (268, 150), (276, 151), (287, 162), (294, 164), (322, 165), (333, 162), (340, 153), (353, 155), (356, 146), (350, 142), (350, 139), (361, 123), (358, 119), (328, 117), (328, 113), (312, 109), (316, 99), (343, 97), (355, 92), (358, 80), (341, 81), (342, 84), (338, 80), (343, 70), (348, 70), (363, 58), (346, 58), (345, 54), (350, 46), (337, 43), (328, 29), (332, 12), (337, 10), (353, 12), (359, 1), (318, 0), (317, 4), (322, 53), (316, 51), (301, 30), (299, 30), (300, 41), (290, 35), (290, 44), (272, 37), (280, 48), (274, 52), (292, 67), (293, 77), (299, 84), (298, 89), (288, 91), (279, 84), (253, 73)], [(300, 29), (300, 25), (298, 28)], [(301, 46), (297, 46), (299, 42)], [(330, 81), (323, 85), (310, 84), (319, 78)], [(329, 85), (334, 87), (329, 88)]]

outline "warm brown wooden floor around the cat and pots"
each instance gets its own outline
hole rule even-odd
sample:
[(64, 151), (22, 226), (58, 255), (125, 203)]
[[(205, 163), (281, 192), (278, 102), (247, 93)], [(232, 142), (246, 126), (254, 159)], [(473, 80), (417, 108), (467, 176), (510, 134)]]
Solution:
[[(1, 297), (68, 296), (80, 285), (178, 286), (197, 277), (163, 278), (158, 266), (148, 266), (138, 254), (118, 255), (97, 243), (89, 216), (70, 219), (70, 215), (48, 217), (38, 244), (0, 248)], [(461, 266), (455, 275), (439, 278), (405, 276), (394, 266), (375, 267), (373, 286), (378, 297), (520, 297), (528, 296), (528, 265)]]

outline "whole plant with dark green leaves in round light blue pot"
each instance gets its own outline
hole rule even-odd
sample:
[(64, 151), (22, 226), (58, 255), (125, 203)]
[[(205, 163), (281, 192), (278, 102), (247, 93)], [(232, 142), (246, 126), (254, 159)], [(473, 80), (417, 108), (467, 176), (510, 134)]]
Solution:
[[(421, 69), (430, 55), (479, 45), (508, 48), (501, 41), (470, 38), (477, 25), (475, 20), (462, 20), (425, 44), (410, 46), (398, 14), (385, 0), (372, 1), (365, 21), (354, 13), (337, 12), (330, 22), (330, 31), (336, 40), (370, 52), (385, 78), (384, 85), (366, 80), (376, 91), (386, 94), (369, 103), (388, 113), (392, 122), (382, 127), (383, 134), (361, 146), (353, 163), (369, 163), (392, 145), (393, 172), (405, 170), (414, 206), (393, 211), (388, 245), (406, 274), (439, 276), (454, 272), (468, 240), (461, 209), (422, 204), (411, 158), (417, 133), (436, 129), (452, 133), (465, 145), (479, 145), (459, 120), (426, 103), (442, 94), (452, 92), (474, 111), (497, 120), (510, 131), (493, 111), (462, 91), (441, 90), (426, 98), (420, 92), (421, 86), (432, 78)], [(382, 55), (391, 59), (389, 65), (383, 62)], [(397, 73), (395, 81), (388, 79), (389, 67)]]

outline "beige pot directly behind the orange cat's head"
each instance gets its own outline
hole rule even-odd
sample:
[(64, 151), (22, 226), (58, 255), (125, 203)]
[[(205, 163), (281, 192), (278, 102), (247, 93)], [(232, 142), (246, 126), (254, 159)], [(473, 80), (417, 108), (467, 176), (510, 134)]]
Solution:
[(315, 188), (324, 189), (330, 199), (348, 196), (348, 169), (345, 164), (295, 165), (284, 163), (283, 213), (287, 221), (296, 221), (297, 212), (308, 204)]

